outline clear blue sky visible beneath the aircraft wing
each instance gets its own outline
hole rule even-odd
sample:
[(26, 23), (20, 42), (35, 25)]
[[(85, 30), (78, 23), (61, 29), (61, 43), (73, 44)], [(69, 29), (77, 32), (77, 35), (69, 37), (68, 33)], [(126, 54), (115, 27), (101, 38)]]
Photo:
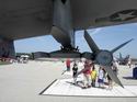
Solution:
[[(134, 38), (132, 43), (114, 55), (118, 56), (122, 53), (123, 56), (130, 55), (137, 58), (137, 23), (92, 29), (88, 32), (101, 49), (113, 49), (117, 45)], [(60, 44), (50, 35), (15, 41), (14, 45), (18, 53), (53, 52), (60, 48)], [(90, 52), (83, 38), (83, 31), (76, 32), (76, 45), (79, 46), (80, 52)]]

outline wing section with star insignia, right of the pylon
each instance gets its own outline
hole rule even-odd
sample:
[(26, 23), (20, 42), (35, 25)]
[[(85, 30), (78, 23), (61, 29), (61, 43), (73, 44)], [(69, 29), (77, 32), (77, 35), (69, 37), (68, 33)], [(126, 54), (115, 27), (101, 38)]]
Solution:
[(76, 30), (137, 22), (137, 0), (71, 0)]

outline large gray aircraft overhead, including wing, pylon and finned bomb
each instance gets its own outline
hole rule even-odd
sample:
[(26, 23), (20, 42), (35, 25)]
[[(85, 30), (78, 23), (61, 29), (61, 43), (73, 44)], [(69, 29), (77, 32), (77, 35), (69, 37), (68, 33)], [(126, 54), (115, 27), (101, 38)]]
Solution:
[(100, 49), (84, 31), (92, 53), (80, 53), (75, 45), (78, 30), (133, 23), (137, 21), (137, 0), (0, 0), (0, 56), (14, 56), (14, 39), (49, 35), (61, 44), (46, 57), (85, 57), (105, 66), (110, 77), (123, 87), (113, 73), (112, 50)]

